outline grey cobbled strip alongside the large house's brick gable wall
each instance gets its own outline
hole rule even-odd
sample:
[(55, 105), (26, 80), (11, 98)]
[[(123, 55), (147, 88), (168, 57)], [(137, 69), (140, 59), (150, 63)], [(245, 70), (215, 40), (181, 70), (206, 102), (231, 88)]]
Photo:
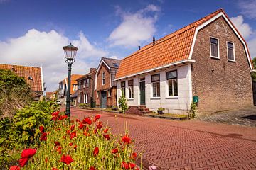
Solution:
[(201, 115), (198, 119), (208, 122), (256, 127), (256, 106), (237, 109), (234, 111), (223, 111), (213, 113), (211, 115)]

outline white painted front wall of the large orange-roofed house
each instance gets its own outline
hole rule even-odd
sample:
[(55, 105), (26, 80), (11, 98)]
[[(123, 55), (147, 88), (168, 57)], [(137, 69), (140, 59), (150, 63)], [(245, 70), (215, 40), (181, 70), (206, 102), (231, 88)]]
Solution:
[[(178, 72), (178, 97), (168, 96), (168, 81), (166, 80), (166, 72), (176, 70)], [(128, 98), (128, 80), (126, 79), (126, 96), (129, 106), (139, 106), (139, 80), (145, 77), (145, 92), (146, 92), (146, 107), (150, 111), (157, 111), (157, 108), (163, 107), (166, 109), (164, 113), (187, 113), (192, 101), (192, 88), (191, 88), (191, 65), (184, 65), (181, 67), (175, 67), (174, 69), (166, 69), (160, 72), (154, 72), (154, 74), (160, 73), (160, 97), (153, 98), (153, 89), (151, 84), (151, 75), (145, 74), (134, 79), (134, 98)], [(117, 81), (117, 98), (121, 96), (121, 81)]]

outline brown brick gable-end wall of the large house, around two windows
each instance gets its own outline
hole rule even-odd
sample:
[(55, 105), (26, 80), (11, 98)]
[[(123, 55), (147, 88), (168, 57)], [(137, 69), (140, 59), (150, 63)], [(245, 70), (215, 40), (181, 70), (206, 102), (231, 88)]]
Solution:
[[(219, 39), (220, 60), (210, 58), (210, 36)], [(228, 61), (227, 41), (235, 43), (235, 62)], [(192, 87), (193, 96), (199, 97), (199, 113), (252, 106), (252, 82), (245, 49), (223, 18), (198, 31), (192, 59), (196, 60)]]

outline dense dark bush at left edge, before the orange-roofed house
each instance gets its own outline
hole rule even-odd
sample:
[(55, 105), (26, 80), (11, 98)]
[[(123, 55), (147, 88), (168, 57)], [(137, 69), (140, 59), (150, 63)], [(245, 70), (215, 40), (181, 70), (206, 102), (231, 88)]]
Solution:
[(0, 115), (12, 117), (18, 108), (33, 101), (31, 87), (11, 70), (0, 69)]

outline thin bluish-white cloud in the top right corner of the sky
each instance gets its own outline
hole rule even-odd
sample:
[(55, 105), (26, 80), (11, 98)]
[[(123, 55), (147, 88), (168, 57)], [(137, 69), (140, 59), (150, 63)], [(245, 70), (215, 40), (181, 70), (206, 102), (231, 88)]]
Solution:
[(247, 18), (256, 19), (256, 0), (239, 1), (238, 6)]

